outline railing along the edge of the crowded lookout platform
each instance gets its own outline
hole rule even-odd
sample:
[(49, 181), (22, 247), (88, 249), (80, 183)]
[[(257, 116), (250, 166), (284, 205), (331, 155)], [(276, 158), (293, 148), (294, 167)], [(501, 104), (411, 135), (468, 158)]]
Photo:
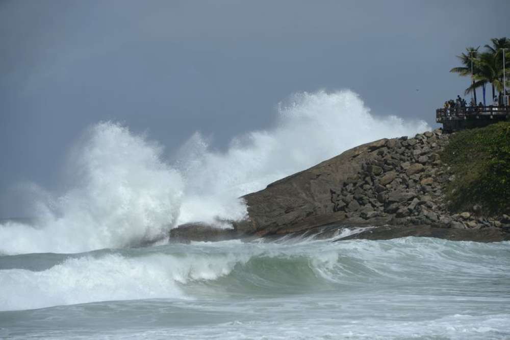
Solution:
[(508, 117), (510, 117), (510, 106), (461, 106), (436, 110), (437, 123), (444, 123), (445, 120), (456, 119), (501, 119)]

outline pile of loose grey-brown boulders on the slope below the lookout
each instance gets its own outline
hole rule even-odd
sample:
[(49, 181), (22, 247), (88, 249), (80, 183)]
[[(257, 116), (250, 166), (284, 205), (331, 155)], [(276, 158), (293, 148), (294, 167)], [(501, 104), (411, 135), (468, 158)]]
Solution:
[(473, 213), (450, 215), (444, 187), (454, 176), (439, 153), (449, 136), (437, 129), (414, 138), (381, 140), (370, 145), (358, 174), (331, 188), (333, 210), (346, 218), (385, 217), (395, 225), (433, 225), (441, 228), (505, 227), (510, 220), (478, 217)]

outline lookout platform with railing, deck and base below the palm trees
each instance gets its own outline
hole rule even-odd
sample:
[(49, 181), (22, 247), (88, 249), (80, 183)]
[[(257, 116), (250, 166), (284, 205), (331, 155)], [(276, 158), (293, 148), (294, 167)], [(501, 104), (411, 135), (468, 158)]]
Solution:
[(510, 118), (510, 106), (466, 106), (437, 109), (436, 122), (447, 132), (482, 128)]

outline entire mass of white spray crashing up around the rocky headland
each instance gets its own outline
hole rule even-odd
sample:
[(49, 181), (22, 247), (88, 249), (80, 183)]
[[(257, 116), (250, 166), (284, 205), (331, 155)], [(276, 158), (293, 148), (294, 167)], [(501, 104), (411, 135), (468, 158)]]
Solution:
[[(169, 164), (161, 147), (116, 123), (90, 128), (73, 149), (71, 183), (38, 200), (35, 227), (0, 225), (0, 253), (82, 252), (155, 240), (180, 223), (238, 219), (239, 197), (355, 145), (429, 127), (377, 117), (351, 91), (294, 94), (274, 127), (211, 151), (194, 134)], [(40, 195), (38, 195), (40, 196)]]

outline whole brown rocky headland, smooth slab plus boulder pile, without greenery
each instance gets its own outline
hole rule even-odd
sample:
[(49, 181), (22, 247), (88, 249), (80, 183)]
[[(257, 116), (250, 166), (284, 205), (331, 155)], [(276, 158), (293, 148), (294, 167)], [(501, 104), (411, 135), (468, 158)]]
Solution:
[(346, 238), (510, 239), (506, 214), (488, 216), (480, 204), (451, 211), (446, 190), (455, 174), (441, 157), (451, 136), (437, 129), (360, 145), (244, 196), (248, 219), (231, 230), (189, 224), (172, 229), (170, 238), (331, 235), (342, 227), (371, 227)]

